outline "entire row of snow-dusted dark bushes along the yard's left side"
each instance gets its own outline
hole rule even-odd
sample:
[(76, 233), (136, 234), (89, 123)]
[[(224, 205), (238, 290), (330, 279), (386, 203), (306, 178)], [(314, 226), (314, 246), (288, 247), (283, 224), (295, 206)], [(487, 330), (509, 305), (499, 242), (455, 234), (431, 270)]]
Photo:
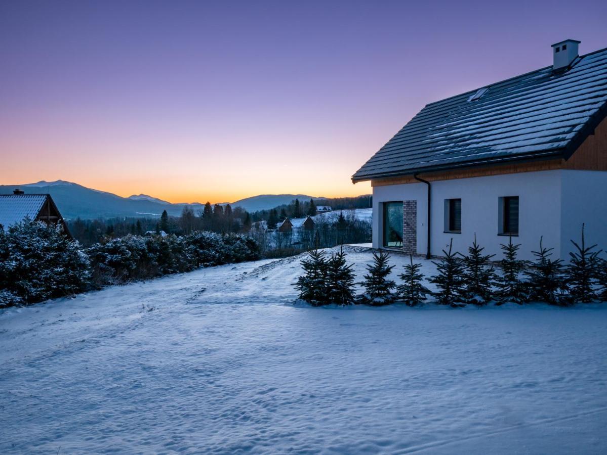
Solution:
[(259, 257), (250, 237), (211, 232), (129, 235), (84, 249), (61, 227), (25, 219), (0, 230), (0, 307)]

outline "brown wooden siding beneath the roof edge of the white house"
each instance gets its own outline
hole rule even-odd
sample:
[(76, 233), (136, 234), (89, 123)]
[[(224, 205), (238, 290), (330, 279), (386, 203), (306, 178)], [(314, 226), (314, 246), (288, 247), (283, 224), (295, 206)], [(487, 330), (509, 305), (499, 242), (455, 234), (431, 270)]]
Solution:
[[(594, 135), (588, 136), (567, 161), (564, 159), (549, 159), (507, 165), (456, 169), (452, 171), (420, 173), (418, 176), (432, 182), (520, 172), (549, 171), (554, 169), (607, 171), (607, 119), (603, 119), (599, 126), (595, 128)], [(371, 180), (372, 187), (409, 183), (419, 183), (419, 181), (413, 178), (412, 175)]]

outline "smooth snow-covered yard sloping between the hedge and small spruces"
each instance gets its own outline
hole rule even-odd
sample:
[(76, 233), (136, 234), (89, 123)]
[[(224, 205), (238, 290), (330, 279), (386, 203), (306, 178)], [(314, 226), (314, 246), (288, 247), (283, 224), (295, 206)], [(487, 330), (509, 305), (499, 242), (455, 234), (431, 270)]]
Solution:
[(298, 261), (4, 311), (0, 453), (607, 453), (605, 304), (309, 308)]

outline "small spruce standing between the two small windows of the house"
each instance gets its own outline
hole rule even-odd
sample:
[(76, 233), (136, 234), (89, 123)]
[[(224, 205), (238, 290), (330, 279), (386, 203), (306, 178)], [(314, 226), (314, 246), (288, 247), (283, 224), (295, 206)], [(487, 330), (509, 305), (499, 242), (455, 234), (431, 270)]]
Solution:
[(489, 260), (495, 254), (483, 254), (484, 247), (474, 242), (468, 247), (468, 255), (464, 256), (464, 302), (473, 305), (487, 305), (493, 299), (493, 282), (496, 274)]

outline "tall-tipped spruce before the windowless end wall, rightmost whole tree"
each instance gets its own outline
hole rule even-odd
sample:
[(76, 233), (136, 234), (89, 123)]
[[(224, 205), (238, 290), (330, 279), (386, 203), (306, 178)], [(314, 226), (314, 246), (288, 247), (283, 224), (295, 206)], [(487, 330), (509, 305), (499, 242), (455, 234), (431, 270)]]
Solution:
[(582, 224), (582, 244), (571, 241), (577, 251), (569, 253), (569, 266), (567, 267), (567, 282), (569, 285), (569, 299), (571, 303), (582, 302), (588, 304), (597, 299), (594, 290), (597, 274), (597, 256), (600, 251), (592, 251), (597, 245), (586, 247), (584, 239), (584, 225)]

